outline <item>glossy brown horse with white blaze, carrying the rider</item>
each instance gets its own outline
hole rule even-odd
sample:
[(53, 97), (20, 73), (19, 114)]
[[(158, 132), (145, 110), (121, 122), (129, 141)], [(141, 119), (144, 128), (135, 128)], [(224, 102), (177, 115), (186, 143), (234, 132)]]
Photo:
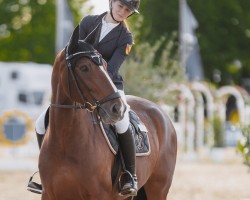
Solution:
[[(115, 156), (98, 125), (119, 121), (125, 106), (100, 55), (78, 38), (77, 27), (54, 63), (49, 128), (39, 156), (42, 200), (132, 199), (118, 195), (117, 180), (112, 185)], [(151, 145), (150, 155), (136, 160), (140, 190), (134, 200), (166, 200), (176, 163), (175, 129), (156, 104), (127, 99)]]

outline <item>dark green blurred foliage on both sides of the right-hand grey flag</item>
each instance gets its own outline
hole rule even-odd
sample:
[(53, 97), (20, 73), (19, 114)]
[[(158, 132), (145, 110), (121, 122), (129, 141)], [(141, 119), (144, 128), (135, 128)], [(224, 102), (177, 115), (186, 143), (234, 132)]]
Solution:
[[(240, 84), (250, 76), (250, 1), (187, 2), (199, 23), (197, 37), (206, 79), (214, 81), (214, 71), (219, 71), (219, 85)], [(141, 16), (130, 20), (132, 29), (136, 30), (136, 44), (154, 44), (161, 36), (166, 37), (167, 43), (179, 30), (178, 0), (141, 1), (140, 12)], [(173, 41), (178, 48), (178, 37)], [(175, 53), (176, 49), (173, 50)]]

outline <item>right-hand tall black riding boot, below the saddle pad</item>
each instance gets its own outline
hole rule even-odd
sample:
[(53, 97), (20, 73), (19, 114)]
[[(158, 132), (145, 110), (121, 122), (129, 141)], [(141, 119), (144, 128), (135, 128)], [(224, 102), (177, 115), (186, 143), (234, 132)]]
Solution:
[(136, 155), (135, 155), (135, 142), (132, 135), (132, 129), (129, 126), (125, 133), (118, 134), (118, 141), (125, 162), (126, 170), (130, 173), (125, 173), (125, 179), (121, 185), (120, 195), (137, 195), (137, 177), (136, 177)]

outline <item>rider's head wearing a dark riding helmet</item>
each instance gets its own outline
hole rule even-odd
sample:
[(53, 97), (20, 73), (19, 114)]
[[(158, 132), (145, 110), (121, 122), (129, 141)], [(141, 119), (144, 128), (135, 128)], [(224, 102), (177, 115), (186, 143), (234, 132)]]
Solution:
[(134, 13), (138, 13), (140, 0), (109, 0), (110, 14), (116, 22), (122, 22)]

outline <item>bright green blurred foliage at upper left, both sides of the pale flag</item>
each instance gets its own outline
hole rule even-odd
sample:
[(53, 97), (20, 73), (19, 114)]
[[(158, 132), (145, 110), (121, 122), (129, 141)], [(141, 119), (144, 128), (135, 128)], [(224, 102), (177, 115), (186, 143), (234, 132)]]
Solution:
[[(87, 0), (70, 0), (75, 23), (86, 14)], [(88, 11), (85, 9), (86, 12)], [(53, 64), (55, 59), (56, 1), (0, 0), (0, 60)]]

